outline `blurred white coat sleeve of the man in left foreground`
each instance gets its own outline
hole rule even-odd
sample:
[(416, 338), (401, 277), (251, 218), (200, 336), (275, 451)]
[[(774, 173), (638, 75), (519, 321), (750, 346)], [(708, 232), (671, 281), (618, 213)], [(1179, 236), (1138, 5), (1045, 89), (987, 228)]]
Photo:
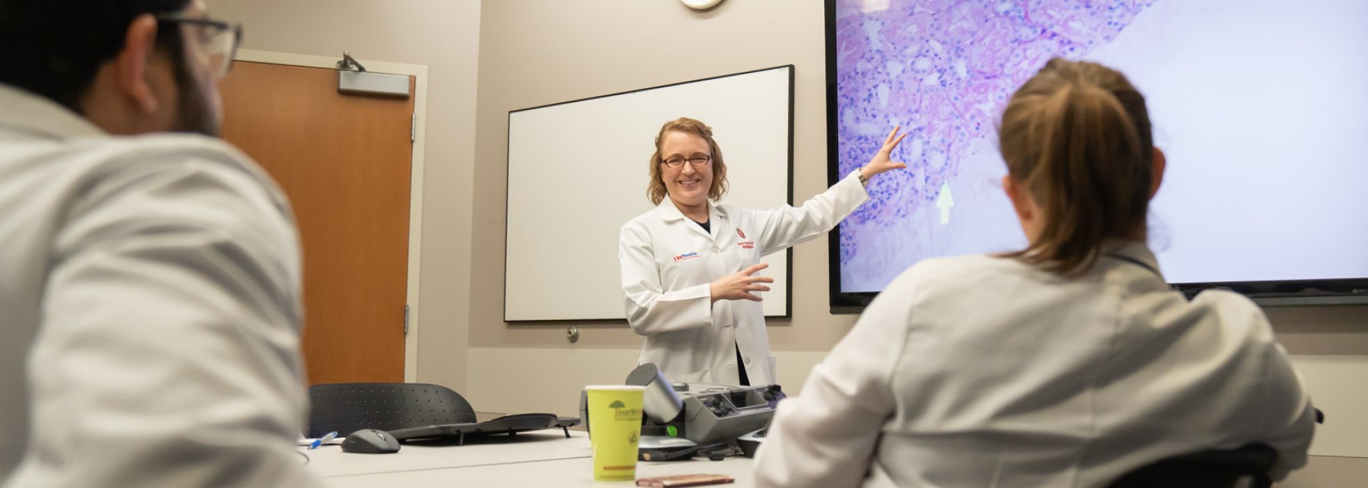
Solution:
[(142, 165), (74, 205), (14, 487), (319, 485), (293, 452), (298, 238), (275, 190), (230, 163)]

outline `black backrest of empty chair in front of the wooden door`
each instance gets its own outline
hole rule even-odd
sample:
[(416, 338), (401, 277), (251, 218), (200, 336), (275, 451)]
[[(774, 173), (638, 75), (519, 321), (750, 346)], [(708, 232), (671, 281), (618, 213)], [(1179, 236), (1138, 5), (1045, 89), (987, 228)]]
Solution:
[(425, 383), (332, 383), (309, 387), (309, 437), (337, 431), (398, 431), (475, 422), (475, 409), (451, 388)]

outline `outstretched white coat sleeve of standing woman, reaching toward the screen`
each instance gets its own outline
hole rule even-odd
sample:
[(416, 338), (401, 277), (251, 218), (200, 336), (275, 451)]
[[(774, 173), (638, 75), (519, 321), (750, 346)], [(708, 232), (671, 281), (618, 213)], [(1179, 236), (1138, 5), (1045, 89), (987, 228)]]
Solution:
[(869, 193), (860, 185), (859, 176), (851, 172), (845, 179), (836, 182), (799, 208), (784, 205), (773, 211), (755, 212), (755, 221), (762, 226), (758, 239), (761, 256), (792, 247), (825, 234), (867, 200)]

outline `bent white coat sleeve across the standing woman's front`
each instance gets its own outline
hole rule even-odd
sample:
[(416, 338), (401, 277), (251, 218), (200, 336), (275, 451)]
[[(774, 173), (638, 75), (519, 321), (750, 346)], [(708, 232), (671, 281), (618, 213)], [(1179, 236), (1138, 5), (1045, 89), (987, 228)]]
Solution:
[(622, 227), (617, 260), (622, 267), (627, 323), (636, 334), (657, 335), (713, 323), (711, 283), (663, 290), (651, 236), (644, 228), (633, 223)]

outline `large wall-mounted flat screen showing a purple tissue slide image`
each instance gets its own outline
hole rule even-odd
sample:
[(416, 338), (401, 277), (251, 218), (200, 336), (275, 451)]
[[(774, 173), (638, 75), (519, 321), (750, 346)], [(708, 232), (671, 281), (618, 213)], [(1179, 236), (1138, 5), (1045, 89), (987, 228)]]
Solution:
[[(828, 0), (830, 178), (895, 124), (908, 168), (832, 232), (832, 305), (917, 261), (1026, 245), (997, 123), (1051, 57), (1124, 72), (1168, 157), (1149, 243), (1178, 287), (1368, 294), (1368, 1)], [(1317, 298), (1320, 299), (1320, 298)], [(1295, 299), (1293, 301), (1295, 302)]]

